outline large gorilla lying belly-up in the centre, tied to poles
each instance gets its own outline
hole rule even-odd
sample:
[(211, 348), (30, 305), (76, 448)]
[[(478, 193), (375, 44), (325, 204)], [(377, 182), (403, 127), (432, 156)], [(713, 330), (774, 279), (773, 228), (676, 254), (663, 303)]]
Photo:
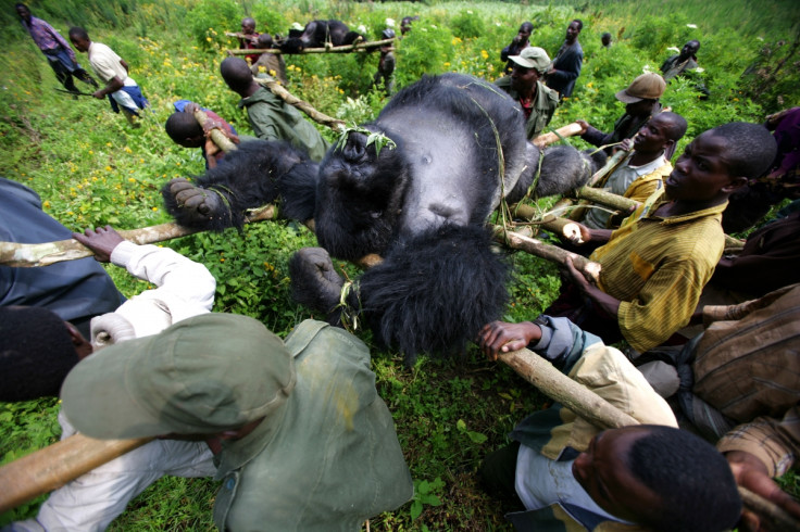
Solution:
[[(485, 227), (502, 199), (583, 186), (602, 161), (572, 147), (540, 152), (520, 106), (491, 84), (461, 74), (424, 76), (378, 117), (342, 135), (314, 167), (282, 142), (243, 142), (215, 170), (162, 190), (182, 225), (222, 229), (241, 212), (282, 198), (287, 217), (313, 216), (321, 248), (290, 262), (295, 299), (328, 315), (359, 316), (379, 343), (417, 353), (462, 352), (498, 319), (510, 268)], [(383, 262), (343, 280), (330, 256)]]

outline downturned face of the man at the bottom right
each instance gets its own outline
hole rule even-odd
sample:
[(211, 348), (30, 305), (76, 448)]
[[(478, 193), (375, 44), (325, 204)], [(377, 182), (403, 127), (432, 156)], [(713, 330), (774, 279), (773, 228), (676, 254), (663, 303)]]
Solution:
[(603, 431), (572, 465), (573, 477), (592, 501), (609, 514), (636, 523), (645, 521), (649, 509), (662, 505), (661, 497), (636, 479), (626, 461), (634, 442), (646, 434), (636, 427)]

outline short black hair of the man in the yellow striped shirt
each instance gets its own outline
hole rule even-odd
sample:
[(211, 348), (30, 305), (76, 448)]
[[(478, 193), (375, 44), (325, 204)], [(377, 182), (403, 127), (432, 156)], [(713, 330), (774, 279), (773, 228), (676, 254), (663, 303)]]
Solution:
[(775, 138), (760, 124), (732, 122), (716, 126), (711, 134), (727, 140), (730, 177), (758, 179), (775, 160), (778, 149)]

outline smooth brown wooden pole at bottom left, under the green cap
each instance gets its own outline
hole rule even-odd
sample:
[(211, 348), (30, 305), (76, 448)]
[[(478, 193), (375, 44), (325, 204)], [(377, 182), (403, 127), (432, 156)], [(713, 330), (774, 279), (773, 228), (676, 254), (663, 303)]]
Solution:
[(0, 468), (0, 514), (51, 492), (151, 441), (96, 440), (75, 434)]

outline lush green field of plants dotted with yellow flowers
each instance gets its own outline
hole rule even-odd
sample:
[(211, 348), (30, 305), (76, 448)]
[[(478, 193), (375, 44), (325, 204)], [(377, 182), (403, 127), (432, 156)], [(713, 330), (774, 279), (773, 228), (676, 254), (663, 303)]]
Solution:
[[(610, 130), (623, 105), (613, 94), (646, 71), (699, 39), (698, 62), (711, 96), (701, 99), (692, 79), (674, 80), (662, 98), (699, 132), (730, 121), (762, 122), (800, 104), (800, 5), (795, 0), (658, 0), (563, 2), (352, 2), (345, 0), (37, 0), (34, 16), (62, 35), (88, 29), (92, 40), (114, 49), (150, 100), (142, 127), (132, 129), (107, 102), (58, 92), (47, 61), (23, 31), (14, 2), (0, 0), (0, 150), (2, 175), (36, 190), (48, 214), (76, 230), (112, 225), (134, 229), (170, 221), (160, 187), (168, 179), (200, 174), (198, 150), (172, 143), (163, 123), (172, 103), (189, 99), (212, 109), (237, 129), (249, 131), (239, 98), (224, 85), (220, 62), (243, 16), (257, 29), (286, 35), (292, 23), (339, 18), (363, 26), (370, 40), (403, 16), (418, 15), (397, 45), (399, 87), (423, 74), (460, 72), (489, 80), (499, 76), (500, 50), (532, 21), (530, 41), (555, 54), (572, 18), (582, 18), (585, 63), (576, 90), (557, 111), (551, 127), (577, 118)], [(603, 49), (610, 31), (614, 46)], [(82, 63), (87, 66), (85, 55)], [(314, 107), (348, 123), (374, 117), (386, 97), (371, 88), (377, 53), (287, 56), (287, 89)], [(84, 88), (82, 84), (77, 84)], [(335, 134), (318, 126), (335, 141)], [(571, 140), (578, 147), (580, 140)], [(543, 211), (550, 202), (542, 202)], [(0, 213), (2, 216), (2, 213)], [(200, 233), (164, 243), (205, 264), (217, 279), (215, 312), (262, 320), (279, 335), (311, 317), (289, 296), (287, 261), (314, 245), (303, 226), (266, 221), (243, 231)], [(525, 254), (515, 266), (508, 320), (533, 319), (554, 297), (558, 269)], [(349, 276), (358, 270), (340, 267)], [(111, 266), (128, 296), (148, 288)], [(357, 331), (370, 343), (366, 331)], [(507, 442), (505, 434), (547, 398), (510, 368), (485, 360), (472, 347), (441, 360), (422, 356), (412, 368), (393, 352), (373, 350), (380, 395), (392, 411), (414, 479), (412, 502), (371, 520), (373, 530), (509, 530), (509, 510), (480, 490), (475, 471), (482, 457)], [(23, 456), (58, 440), (58, 400), (0, 404), (0, 459)], [(785, 482), (796, 483), (793, 476)], [(216, 484), (205, 479), (164, 478), (137, 497), (112, 530), (212, 530)], [(797, 489), (797, 486), (795, 486)], [(0, 525), (36, 514), (38, 501), (0, 516)]]

